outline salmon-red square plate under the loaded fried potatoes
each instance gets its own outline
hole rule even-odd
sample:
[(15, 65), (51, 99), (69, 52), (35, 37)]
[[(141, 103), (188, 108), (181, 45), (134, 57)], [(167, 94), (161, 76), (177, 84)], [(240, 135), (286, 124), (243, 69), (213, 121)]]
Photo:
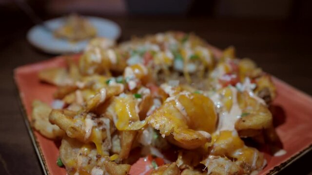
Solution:
[[(220, 54), (220, 51), (217, 49), (214, 49), (214, 51), (216, 54)], [(78, 55), (74, 57), (78, 59)], [(51, 104), (53, 101), (52, 94), (56, 90), (54, 86), (39, 82), (39, 70), (64, 66), (65, 61), (60, 56), (51, 60), (21, 66), (14, 70), (14, 78), (19, 89), (20, 100), (25, 110), (26, 125), (44, 172), (51, 175), (66, 175), (65, 169), (59, 168), (56, 164), (59, 156), (58, 143), (44, 138), (30, 127), (31, 103), (33, 100), (39, 99)], [(280, 157), (266, 154), (268, 164), (260, 172), (260, 175), (275, 174), (292, 163), (296, 158), (310, 151), (312, 145), (312, 98), (277, 78), (273, 78), (273, 81), (278, 92), (278, 96), (273, 102), (273, 114), (279, 121), (276, 130), (283, 143), (283, 149), (287, 153)]]

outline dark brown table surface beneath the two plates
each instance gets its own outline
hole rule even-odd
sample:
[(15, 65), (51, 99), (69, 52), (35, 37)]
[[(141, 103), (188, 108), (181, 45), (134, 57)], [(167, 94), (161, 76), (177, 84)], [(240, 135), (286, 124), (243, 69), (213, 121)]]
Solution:
[[(14, 19), (14, 20), (13, 20)], [(304, 22), (207, 19), (200, 17), (112, 17), (122, 29), (120, 41), (167, 30), (195, 32), (221, 49), (233, 45), (238, 57), (252, 58), (266, 72), (312, 94), (311, 28)], [(3, 18), (0, 28), (0, 175), (42, 174), (17, 101), (13, 69), (53, 57), (26, 40), (26, 17)], [(298, 136), (300, 137), (300, 136)], [(312, 175), (312, 153), (281, 174)], [(309, 166), (310, 165), (310, 166)]]

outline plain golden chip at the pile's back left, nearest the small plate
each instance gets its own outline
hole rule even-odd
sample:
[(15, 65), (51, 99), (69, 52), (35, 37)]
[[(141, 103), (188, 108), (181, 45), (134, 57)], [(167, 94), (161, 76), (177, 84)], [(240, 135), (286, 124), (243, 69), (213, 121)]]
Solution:
[(38, 76), (40, 81), (56, 86), (66, 86), (73, 83), (65, 68), (50, 68), (41, 70)]

